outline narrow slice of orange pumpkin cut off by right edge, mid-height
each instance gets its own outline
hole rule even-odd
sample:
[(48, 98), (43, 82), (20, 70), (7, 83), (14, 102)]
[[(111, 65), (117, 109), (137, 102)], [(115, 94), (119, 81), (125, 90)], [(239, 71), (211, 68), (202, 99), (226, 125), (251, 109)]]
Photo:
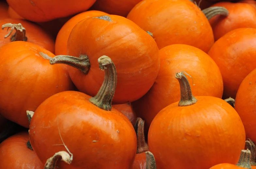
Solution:
[[(253, 44), (251, 44), (253, 45)], [(248, 56), (247, 56), (248, 57)], [(249, 73), (239, 86), (235, 98), (235, 110), (242, 119), (245, 127), (246, 137), (252, 141), (256, 141), (256, 124), (255, 124), (255, 108), (256, 108), (256, 69)]]

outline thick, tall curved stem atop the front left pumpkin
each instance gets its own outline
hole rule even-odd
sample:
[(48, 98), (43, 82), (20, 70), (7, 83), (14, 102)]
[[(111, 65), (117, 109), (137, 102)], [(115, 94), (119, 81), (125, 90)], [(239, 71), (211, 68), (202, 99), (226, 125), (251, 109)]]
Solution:
[(99, 68), (105, 70), (104, 81), (96, 94), (90, 99), (90, 102), (103, 110), (112, 110), (111, 102), (114, 97), (117, 75), (115, 65), (108, 56), (98, 58)]

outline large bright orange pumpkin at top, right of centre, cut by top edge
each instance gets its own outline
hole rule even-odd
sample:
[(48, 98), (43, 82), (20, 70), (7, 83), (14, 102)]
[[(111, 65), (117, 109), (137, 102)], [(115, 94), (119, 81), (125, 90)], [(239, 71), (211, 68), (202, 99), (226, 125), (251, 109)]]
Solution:
[(127, 18), (153, 33), (159, 49), (171, 44), (187, 44), (208, 52), (214, 43), (207, 18), (188, 0), (143, 0)]

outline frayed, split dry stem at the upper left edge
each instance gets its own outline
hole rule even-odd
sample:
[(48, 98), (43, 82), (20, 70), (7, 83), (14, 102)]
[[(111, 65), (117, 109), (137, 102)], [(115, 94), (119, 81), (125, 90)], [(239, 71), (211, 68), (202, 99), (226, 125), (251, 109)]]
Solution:
[(4, 38), (7, 38), (8, 36), (10, 36), (10, 34), (13, 32), (13, 30), (16, 31), (11, 36), (11, 42), (13, 42), (13, 41), (27, 41), (26, 29), (23, 28), (21, 23), (19, 23), (19, 24), (7, 23), (7, 24), (2, 25), (2, 30), (4, 30), (4, 28), (8, 28), (7, 31), (9, 30), (9, 28), (11, 28), (9, 33)]

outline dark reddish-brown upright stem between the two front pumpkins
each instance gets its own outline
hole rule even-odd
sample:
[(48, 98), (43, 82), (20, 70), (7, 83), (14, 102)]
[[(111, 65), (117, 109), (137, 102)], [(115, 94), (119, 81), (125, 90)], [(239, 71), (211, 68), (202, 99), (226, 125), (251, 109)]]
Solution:
[(138, 117), (135, 123), (135, 131), (137, 135), (137, 154), (148, 151), (148, 145), (145, 141), (144, 124), (145, 121)]

